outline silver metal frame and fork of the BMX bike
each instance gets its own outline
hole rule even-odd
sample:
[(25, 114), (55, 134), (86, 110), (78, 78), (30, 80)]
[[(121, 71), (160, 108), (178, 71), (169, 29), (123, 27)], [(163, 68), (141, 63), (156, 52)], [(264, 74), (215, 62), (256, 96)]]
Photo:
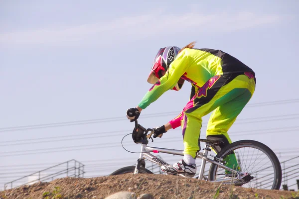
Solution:
[[(217, 162), (217, 161), (221, 161), (220, 159), (217, 159), (217, 161), (214, 161), (214, 160), (208, 158), (208, 155), (211, 156), (211, 157), (213, 157), (213, 158), (215, 158), (214, 155), (208, 154), (209, 151), (211, 150), (211, 149), (208, 148), (209, 146), (210, 145), (208, 143), (205, 143), (205, 147), (203, 149), (204, 152), (203, 153), (202, 152), (198, 152), (197, 153), (197, 158), (201, 158), (202, 159), (198, 179), (199, 180), (203, 180), (203, 172), (204, 172), (204, 168), (205, 168), (205, 165), (206, 165), (206, 161), (208, 161), (208, 162), (210, 162), (212, 164), (216, 164), (216, 165), (220, 166), (220, 168), (224, 168), (225, 170), (231, 171), (232, 174), (234, 174), (234, 176), (236, 176), (235, 177), (236, 180), (240, 179), (239, 178), (239, 173), (241, 173), (241, 172), (233, 170), (233, 169), (231, 169), (229, 167), (226, 167), (225, 165)], [(140, 153), (140, 156), (139, 156), (139, 160), (147, 159), (150, 162), (153, 162), (153, 163), (158, 164), (160, 166), (162, 166), (162, 165), (170, 166), (168, 163), (166, 163), (163, 160), (157, 158), (156, 156), (150, 154), (150, 152), (152, 152), (152, 153), (167, 153), (167, 154), (180, 155), (180, 156), (184, 155), (182, 150), (165, 149), (165, 148), (158, 148), (158, 147), (149, 147), (149, 146), (147, 146), (147, 144), (142, 144), (141, 145), (141, 153)], [(139, 164), (139, 161), (137, 161), (134, 174), (138, 174), (139, 173), (139, 168), (140, 168), (140, 164)], [(181, 176), (184, 176), (184, 175), (181, 175)], [(219, 180), (212, 181), (212, 182), (232, 182), (232, 178), (219, 179)]]

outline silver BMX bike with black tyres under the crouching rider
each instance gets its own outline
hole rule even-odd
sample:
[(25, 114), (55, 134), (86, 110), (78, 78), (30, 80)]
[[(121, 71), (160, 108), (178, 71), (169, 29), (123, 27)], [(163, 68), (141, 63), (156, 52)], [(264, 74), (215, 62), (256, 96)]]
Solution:
[[(135, 128), (132, 138), (135, 143), (141, 144), (141, 152), (136, 166), (128, 166), (113, 172), (110, 175), (120, 175), (126, 173), (134, 174), (152, 174), (146, 169), (145, 159), (157, 165), (169, 165), (160, 158), (151, 153), (166, 153), (172, 155), (183, 156), (183, 150), (166, 149), (148, 146), (153, 130), (144, 128), (135, 121)], [(272, 189), (279, 190), (282, 182), (281, 164), (276, 154), (265, 144), (254, 140), (239, 140), (233, 142), (215, 156), (209, 154), (214, 146), (218, 146), (221, 142), (200, 139), (204, 143), (203, 152), (198, 152), (196, 158), (202, 159), (199, 169), (199, 180), (211, 182), (222, 182), (223, 184), (234, 184), (247, 188)], [(239, 169), (232, 169), (225, 166), (224, 160), (228, 155), (235, 153)], [(208, 175), (204, 176), (206, 162), (210, 162), (211, 166)], [(227, 172), (230, 177), (227, 177)], [(184, 176), (179, 174), (180, 176)]]

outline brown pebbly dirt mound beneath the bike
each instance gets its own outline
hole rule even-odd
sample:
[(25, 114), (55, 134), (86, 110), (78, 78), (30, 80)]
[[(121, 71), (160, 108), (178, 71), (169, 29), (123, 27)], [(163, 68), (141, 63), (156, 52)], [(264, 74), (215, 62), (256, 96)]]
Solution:
[(150, 194), (154, 199), (299, 199), (295, 192), (220, 186), (197, 179), (150, 174), (63, 178), (6, 190), (0, 192), (0, 199), (105, 199), (121, 191), (134, 192), (137, 197)]

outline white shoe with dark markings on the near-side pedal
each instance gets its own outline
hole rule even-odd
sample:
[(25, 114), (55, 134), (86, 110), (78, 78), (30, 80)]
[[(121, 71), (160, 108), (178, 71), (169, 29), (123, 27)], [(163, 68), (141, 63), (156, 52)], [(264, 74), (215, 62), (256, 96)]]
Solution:
[(184, 160), (180, 160), (172, 166), (161, 166), (161, 170), (167, 174), (183, 174), (190, 177), (195, 175), (196, 169), (196, 164), (187, 165)]

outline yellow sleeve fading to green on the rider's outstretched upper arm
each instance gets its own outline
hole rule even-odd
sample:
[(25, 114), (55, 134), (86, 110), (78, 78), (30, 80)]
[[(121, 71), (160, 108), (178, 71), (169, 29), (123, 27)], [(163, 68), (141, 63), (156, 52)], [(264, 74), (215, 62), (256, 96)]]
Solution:
[(157, 100), (163, 93), (172, 89), (179, 78), (185, 73), (189, 66), (190, 57), (186, 55), (186, 51), (183, 50), (177, 55), (175, 60), (170, 64), (168, 72), (160, 78), (160, 80), (151, 87), (148, 93), (138, 104), (139, 107), (145, 109), (150, 103)]

